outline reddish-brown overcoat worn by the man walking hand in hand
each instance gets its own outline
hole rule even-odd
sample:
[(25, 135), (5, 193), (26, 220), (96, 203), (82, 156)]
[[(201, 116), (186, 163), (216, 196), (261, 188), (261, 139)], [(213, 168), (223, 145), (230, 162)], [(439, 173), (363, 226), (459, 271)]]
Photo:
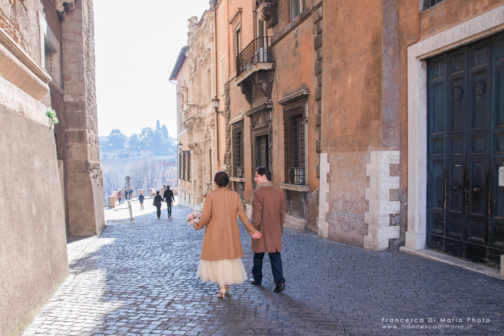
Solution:
[(266, 181), (252, 195), (252, 226), (263, 235), (250, 242), (256, 252), (281, 252), (285, 219), (285, 196), (282, 189)]

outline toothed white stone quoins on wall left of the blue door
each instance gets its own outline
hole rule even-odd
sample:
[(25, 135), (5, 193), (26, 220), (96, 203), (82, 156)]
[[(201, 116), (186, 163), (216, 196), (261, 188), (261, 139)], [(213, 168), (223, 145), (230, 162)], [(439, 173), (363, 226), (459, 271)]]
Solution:
[(371, 152), (371, 163), (366, 165), (369, 176), (369, 188), (365, 191), (369, 212), (364, 213), (364, 223), (368, 225), (364, 236), (366, 249), (384, 250), (389, 247), (389, 239), (399, 238), (399, 226), (390, 226), (390, 215), (399, 214), (400, 207), (400, 201), (390, 200), (390, 190), (399, 189), (399, 176), (390, 176), (391, 164), (399, 164), (399, 151)]

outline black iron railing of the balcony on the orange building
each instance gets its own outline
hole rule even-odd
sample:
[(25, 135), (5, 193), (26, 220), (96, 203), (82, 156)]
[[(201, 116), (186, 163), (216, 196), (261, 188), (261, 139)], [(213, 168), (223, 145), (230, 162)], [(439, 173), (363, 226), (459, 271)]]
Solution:
[(254, 64), (273, 62), (271, 40), (271, 36), (258, 37), (239, 53), (236, 57), (236, 77)]

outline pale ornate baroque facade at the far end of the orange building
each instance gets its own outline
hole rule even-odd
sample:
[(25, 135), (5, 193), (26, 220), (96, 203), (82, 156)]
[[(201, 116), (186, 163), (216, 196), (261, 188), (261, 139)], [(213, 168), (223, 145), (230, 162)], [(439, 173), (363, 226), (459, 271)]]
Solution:
[[(206, 11), (201, 20), (189, 22), (187, 46), (180, 50), (170, 80), (177, 83), (177, 120), (179, 144), (178, 201), (184, 206), (201, 209), (203, 195), (212, 189), (218, 154), (212, 149), (215, 123), (212, 107), (214, 92), (214, 13)], [(179, 145), (179, 146), (180, 146)], [(217, 152), (218, 153), (218, 152)]]

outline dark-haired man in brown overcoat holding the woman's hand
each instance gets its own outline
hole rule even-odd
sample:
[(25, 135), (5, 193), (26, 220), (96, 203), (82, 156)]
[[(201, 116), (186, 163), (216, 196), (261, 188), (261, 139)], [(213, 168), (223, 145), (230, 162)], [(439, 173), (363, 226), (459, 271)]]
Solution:
[(252, 240), (254, 251), (254, 266), (250, 279), (253, 285), (261, 285), (263, 280), (263, 258), (268, 252), (271, 261), (271, 271), (275, 280), (274, 291), (285, 289), (285, 279), (282, 272), (282, 231), (285, 216), (284, 192), (271, 183), (271, 171), (268, 167), (258, 167), (256, 178), (258, 184), (252, 196), (252, 226), (262, 233), (262, 237)]

